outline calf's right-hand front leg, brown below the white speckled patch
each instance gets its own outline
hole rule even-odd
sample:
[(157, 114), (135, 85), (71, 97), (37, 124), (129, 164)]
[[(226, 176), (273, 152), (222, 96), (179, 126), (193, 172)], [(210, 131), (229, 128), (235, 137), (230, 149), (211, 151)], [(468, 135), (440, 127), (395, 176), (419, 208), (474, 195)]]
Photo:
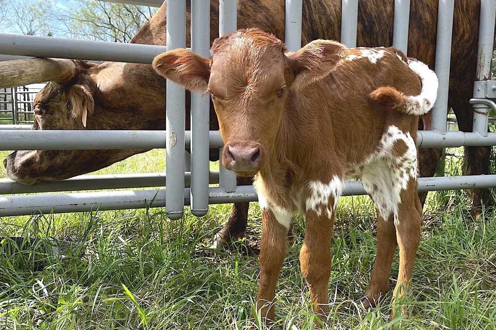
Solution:
[(329, 313), (328, 283), (334, 211), (327, 210), (319, 214), (313, 210), (307, 211), (305, 239), (300, 251), (300, 265), (310, 290), (312, 308), (321, 319), (325, 319)]

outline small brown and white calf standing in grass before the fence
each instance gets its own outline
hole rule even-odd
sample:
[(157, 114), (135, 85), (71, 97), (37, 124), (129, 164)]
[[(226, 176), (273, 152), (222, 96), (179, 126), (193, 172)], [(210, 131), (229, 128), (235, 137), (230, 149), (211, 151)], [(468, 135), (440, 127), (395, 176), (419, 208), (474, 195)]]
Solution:
[[(306, 216), (300, 264), (314, 311), (328, 312), (334, 212), (347, 177), (360, 178), (377, 210), (377, 257), (366, 302), (412, 278), (422, 207), (417, 195), (418, 115), (434, 105), (437, 78), (394, 48), (348, 49), (316, 40), (286, 53), (259, 29), (217, 39), (212, 60), (178, 49), (154, 68), (195, 92), (210, 92), (225, 141), (223, 164), (256, 174), (262, 209), (257, 308), (273, 319), (277, 276), (292, 216)], [(269, 304), (266, 304), (269, 302)]]

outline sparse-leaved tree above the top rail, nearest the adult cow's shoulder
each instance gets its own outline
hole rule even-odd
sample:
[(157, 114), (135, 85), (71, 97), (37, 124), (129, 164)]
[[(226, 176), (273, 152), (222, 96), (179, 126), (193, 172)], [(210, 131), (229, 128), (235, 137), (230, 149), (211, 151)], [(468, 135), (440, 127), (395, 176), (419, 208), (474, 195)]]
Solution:
[(76, 39), (129, 42), (155, 13), (155, 8), (103, 1), (77, 0), (73, 9), (61, 10), (63, 33)]

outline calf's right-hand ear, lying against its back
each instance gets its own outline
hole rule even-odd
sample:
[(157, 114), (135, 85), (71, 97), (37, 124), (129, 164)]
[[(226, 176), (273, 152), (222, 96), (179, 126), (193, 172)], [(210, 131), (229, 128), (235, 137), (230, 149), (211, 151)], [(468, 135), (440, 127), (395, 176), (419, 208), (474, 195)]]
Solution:
[(288, 66), (294, 77), (292, 88), (304, 88), (327, 76), (347, 52), (346, 46), (336, 41), (315, 40), (288, 55)]

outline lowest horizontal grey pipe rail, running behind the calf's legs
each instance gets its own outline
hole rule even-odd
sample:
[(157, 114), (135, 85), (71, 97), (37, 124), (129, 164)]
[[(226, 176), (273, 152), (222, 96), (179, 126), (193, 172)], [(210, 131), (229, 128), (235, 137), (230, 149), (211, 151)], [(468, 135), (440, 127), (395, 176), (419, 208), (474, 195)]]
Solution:
[[(419, 191), (489, 188), (496, 186), (496, 175), (423, 177), (418, 179), (418, 183)], [(95, 212), (165, 207), (167, 189), (15, 197), (0, 196), (0, 217), (39, 213)], [(360, 181), (345, 183), (343, 196), (365, 194), (366, 192)], [(189, 188), (185, 188), (183, 192), (185, 205), (190, 203), (189, 196)], [(209, 204), (255, 201), (257, 201), (257, 195), (253, 186), (238, 186), (234, 193), (228, 193), (222, 188), (209, 188), (208, 191)]]

